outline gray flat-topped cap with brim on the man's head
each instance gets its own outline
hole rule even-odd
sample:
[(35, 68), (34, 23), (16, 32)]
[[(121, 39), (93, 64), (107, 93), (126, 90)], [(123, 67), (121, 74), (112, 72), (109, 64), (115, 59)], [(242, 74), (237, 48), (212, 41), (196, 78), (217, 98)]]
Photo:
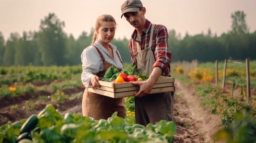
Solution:
[(143, 5), (140, 0), (126, 0), (121, 6), (121, 18), (123, 17), (124, 13), (137, 12), (141, 7), (143, 7)]

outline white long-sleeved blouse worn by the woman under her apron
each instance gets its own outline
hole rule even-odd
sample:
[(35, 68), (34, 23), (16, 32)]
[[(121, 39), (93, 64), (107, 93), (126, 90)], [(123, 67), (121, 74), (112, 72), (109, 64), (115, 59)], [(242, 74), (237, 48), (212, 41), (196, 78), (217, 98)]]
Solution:
[[(117, 56), (117, 53), (116, 53), (117, 51), (116, 46), (109, 43), (109, 46), (110, 48), (112, 48), (112, 51), (114, 54), (114, 58), (112, 58), (108, 54), (108, 51), (106, 50), (106, 48), (104, 48), (98, 40), (94, 42), (94, 45), (97, 48), (99, 48), (99, 51), (101, 51), (106, 62), (114, 65), (117, 68), (121, 68), (121, 69), (123, 68), (123, 65), (120, 62), (119, 57)], [(120, 55), (120, 58), (121, 58), (121, 55)], [(81, 81), (85, 86), (85, 88), (91, 88), (91, 76), (97, 75), (99, 71), (103, 70), (103, 61), (101, 60), (101, 57), (97, 49), (93, 46), (88, 46), (83, 50), (81, 54), (81, 62), (82, 62), (82, 69), (83, 69), (83, 72), (81, 74)]]

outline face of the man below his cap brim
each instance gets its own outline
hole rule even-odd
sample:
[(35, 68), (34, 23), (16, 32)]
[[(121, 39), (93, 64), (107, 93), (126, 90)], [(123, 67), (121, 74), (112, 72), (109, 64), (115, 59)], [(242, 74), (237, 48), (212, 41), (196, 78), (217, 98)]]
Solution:
[(124, 17), (135, 28), (140, 27), (144, 19), (144, 15), (141, 10), (138, 10), (137, 12), (124, 13)]

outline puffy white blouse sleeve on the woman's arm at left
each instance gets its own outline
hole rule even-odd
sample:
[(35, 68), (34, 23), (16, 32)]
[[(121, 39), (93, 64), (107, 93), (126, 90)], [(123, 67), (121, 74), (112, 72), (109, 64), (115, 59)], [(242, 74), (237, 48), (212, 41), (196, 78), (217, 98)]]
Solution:
[(95, 48), (85, 48), (81, 54), (82, 74), (81, 81), (85, 88), (91, 88), (91, 77), (97, 75), (100, 69), (99, 53)]

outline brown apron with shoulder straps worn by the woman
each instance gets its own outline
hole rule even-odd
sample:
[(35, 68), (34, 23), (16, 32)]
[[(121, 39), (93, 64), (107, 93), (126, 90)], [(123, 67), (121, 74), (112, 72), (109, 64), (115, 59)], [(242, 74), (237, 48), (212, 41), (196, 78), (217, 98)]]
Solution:
[[(101, 56), (104, 66), (103, 71), (100, 71), (97, 76), (103, 77), (106, 70), (108, 70), (108, 68), (112, 66), (112, 64), (106, 62), (99, 49), (97, 47), (95, 48)], [(118, 53), (117, 55), (119, 57)], [(120, 57), (119, 59), (121, 61)], [(108, 119), (116, 111), (118, 112), (117, 116), (122, 118), (126, 117), (126, 109), (123, 104), (123, 98), (111, 98), (93, 92), (88, 92), (87, 88), (85, 88), (85, 91), (83, 93), (82, 111), (83, 116), (92, 117), (95, 120)]]

